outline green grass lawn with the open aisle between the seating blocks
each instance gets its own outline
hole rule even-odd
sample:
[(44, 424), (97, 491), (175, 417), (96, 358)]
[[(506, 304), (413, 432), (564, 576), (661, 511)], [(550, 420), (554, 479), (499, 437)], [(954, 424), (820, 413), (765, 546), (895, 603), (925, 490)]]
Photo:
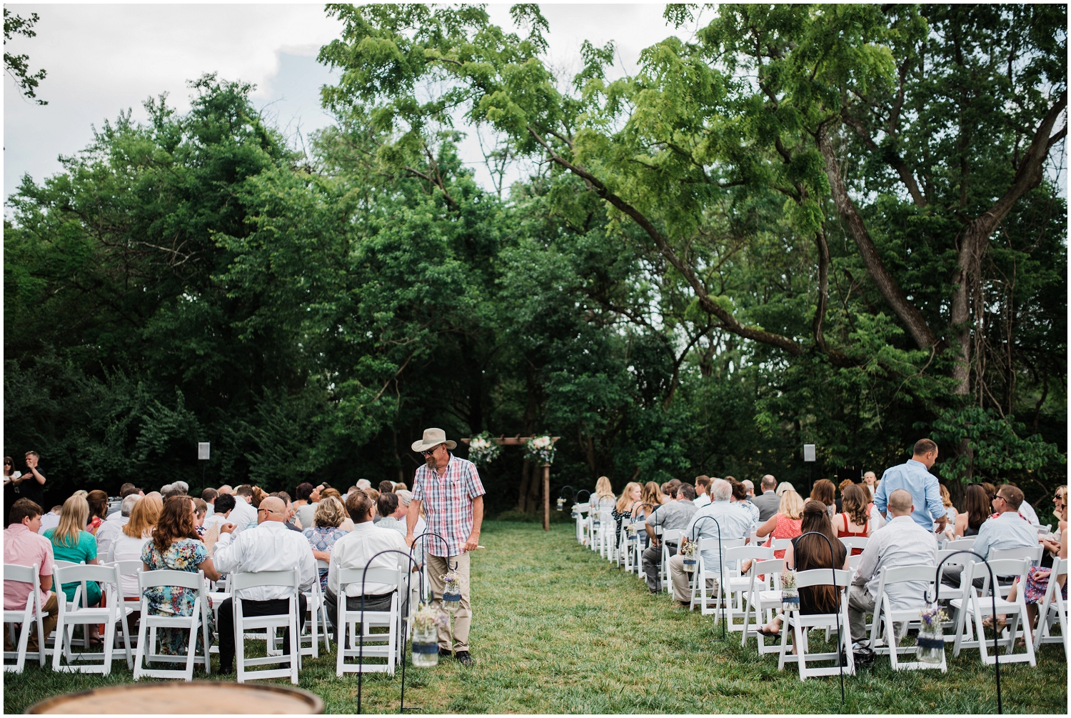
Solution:
[[(670, 607), (634, 575), (577, 545), (571, 524), (488, 522), (472, 559), (476, 664), (452, 659), (406, 669), (406, 705), (424, 713), (995, 713), (993, 668), (977, 650), (949, 672), (894, 673), (888, 658), (845, 678), (799, 680), (725, 641), (711, 616)], [(817, 635), (817, 634), (815, 634)], [(735, 637), (735, 639), (734, 639)], [(195, 674), (198, 677), (199, 674)], [(4, 675), (4, 713), (21, 713), (56, 693), (127, 683), (123, 661), (109, 676), (54, 674), (34, 663)], [(281, 684), (285, 682), (278, 682)], [(1007, 713), (1066, 714), (1064, 649), (1042, 647), (1038, 668), (1001, 665)], [(336, 678), (334, 654), (306, 660), (300, 687), (318, 693), (328, 713), (357, 709), (357, 675)], [(401, 673), (365, 676), (363, 709), (397, 713)], [(203, 706), (210, 710), (211, 706)]]

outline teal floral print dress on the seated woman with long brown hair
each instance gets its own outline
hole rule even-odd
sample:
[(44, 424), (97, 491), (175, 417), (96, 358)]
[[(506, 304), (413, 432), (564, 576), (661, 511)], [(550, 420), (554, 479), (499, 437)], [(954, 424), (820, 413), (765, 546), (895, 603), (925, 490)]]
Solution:
[[(152, 541), (146, 541), (141, 552), (141, 560), (151, 571), (170, 569), (172, 571), (197, 572), (197, 566), (208, 558), (208, 551), (200, 541), (191, 538), (179, 539), (161, 553)], [(197, 593), (193, 588), (181, 586), (154, 586), (146, 588), (145, 597), (149, 601), (149, 613), (155, 616), (192, 616)], [(215, 620), (212, 612), (208, 612), (209, 635), (215, 632)], [(185, 656), (190, 645), (190, 632), (182, 628), (157, 628), (160, 637), (160, 653), (168, 656)], [(198, 654), (203, 654), (203, 633), (197, 631)]]

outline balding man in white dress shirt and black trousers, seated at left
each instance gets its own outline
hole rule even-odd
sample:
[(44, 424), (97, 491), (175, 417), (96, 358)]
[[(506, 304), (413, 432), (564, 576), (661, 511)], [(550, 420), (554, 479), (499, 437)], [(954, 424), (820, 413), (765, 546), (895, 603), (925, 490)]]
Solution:
[[(233, 514), (231, 514), (233, 515)], [(319, 581), (313, 548), (302, 534), (292, 532), (283, 523), (286, 505), (281, 498), (268, 496), (256, 510), (258, 525), (240, 534), (233, 524), (220, 527), (220, 541), (215, 544), (212, 562), (221, 573), (286, 571), (297, 568), (301, 577), (301, 590), (308, 590)], [(246, 616), (271, 616), (289, 611), (289, 588), (286, 586), (256, 586), (243, 588), (242, 613)], [(298, 594), (298, 619), (305, 623), (305, 596)], [(220, 634), (220, 673), (230, 673), (235, 661), (235, 613), (231, 599), (220, 605), (217, 626)], [(300, 630), (300, 628), (299, 628)], [(295, 637), (297, 638), (297, 637)], [(283, 652), (290, 649), (290, 631), (283, 638)]]

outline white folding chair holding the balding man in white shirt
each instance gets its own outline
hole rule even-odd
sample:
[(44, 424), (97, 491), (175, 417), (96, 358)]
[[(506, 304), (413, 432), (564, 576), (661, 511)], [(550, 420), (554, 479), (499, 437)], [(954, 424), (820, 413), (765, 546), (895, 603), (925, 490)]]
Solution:
[[(257, 586), (285, 586), (287, 600), (289, 601), (286, 613), (269, 616), (246, 616), (242, 613), (241, 593), (246, 588)], [(290, 678), (290, 683), (298, 685), (298, 669), (301, 668), (301, 637), (298, 632), (300, 622), (298, 619), (298, 592), (301, 588), (301, 574), (298, 569), (287, 571), (258, 571), (238, 572), (230, 577), (230, 589), (233, 594), (231, 605), (235, 611), (235, 662), (237, 664), (238, 683), (246, 680), (258, 680), (260, 678)], [(277, 629), (289, 629), (290, 631), (290, 653), (285, 654), (274, 650), (275, 632)], [(245, 657), (245, 631), (248, 629), (262, 629), (267, 631), (268, 655), (263, 658)], [(274, 655), (273, 655), (274, 654)], [(273, 663), (289, 663), (289, 668), (266, 669), (260, 671), (250, 671), (248, 668), (256, 665), (271, 665)]]

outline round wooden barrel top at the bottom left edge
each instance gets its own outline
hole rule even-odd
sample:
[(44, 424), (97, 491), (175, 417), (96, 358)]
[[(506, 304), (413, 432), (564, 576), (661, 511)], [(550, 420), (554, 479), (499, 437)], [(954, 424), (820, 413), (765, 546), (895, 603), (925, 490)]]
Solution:
[(285, 686), (216, 683), (140, 683), (54, 695), (30, 714), (319, 714), (323, 700)]

